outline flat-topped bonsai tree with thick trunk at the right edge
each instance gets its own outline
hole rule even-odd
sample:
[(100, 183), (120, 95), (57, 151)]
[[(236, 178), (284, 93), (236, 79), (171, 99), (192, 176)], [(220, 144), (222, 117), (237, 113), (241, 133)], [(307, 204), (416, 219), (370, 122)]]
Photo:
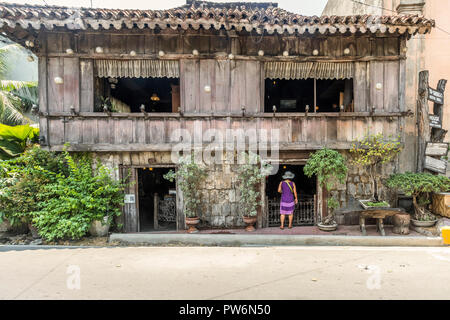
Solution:
[(391, 175), (386, 181), (386, 186), (412, 196), (414, 219), (427, 221), (435, 219), (434, 215), (426, 209), (429, 203), (428, 193), (450, 191), (450, 179), (430, 173), (406, 172)]

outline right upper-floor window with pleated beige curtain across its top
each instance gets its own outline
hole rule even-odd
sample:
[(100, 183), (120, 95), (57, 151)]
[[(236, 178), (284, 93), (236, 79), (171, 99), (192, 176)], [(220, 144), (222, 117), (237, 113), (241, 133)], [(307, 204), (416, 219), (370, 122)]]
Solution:
[(352, 63), (269, 62), (264, 84), (264, 112), (354, 110)]

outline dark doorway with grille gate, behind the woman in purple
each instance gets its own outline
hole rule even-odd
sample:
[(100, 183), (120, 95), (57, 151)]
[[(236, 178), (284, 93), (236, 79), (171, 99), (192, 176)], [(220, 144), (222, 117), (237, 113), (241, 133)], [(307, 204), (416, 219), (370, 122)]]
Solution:
[(280, 225), (280, 200), (278, 186), (283, 181), (286, 171), (295, 174), (294, 181), (297, 188), (298, 204), (294, 210), (294, 226), (314, 225), (316, 221), (316, 178), (308, 178), (303, 173), (303, 165), (280, 164), (278, 172), (266, 178), (266, 197), (268, 206), (268, 225)]

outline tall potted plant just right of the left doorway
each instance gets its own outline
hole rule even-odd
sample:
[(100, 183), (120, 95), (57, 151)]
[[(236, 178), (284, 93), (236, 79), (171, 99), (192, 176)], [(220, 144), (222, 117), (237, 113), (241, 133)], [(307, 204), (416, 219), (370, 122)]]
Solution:
[(179, 159), (176, 171), (170, 170), (163, 177), (170, 182), (177, 180), (178, 186), (183, 194), (184, 213), (186, 225), (189, 227), (188, 233), (198, 232), (195, 227), (199, 222), (198, 209), (201, 205), (201, 183), (206, 178), (206, 170), (201, 168), (194, 161), (194, 154), (190, 157)]

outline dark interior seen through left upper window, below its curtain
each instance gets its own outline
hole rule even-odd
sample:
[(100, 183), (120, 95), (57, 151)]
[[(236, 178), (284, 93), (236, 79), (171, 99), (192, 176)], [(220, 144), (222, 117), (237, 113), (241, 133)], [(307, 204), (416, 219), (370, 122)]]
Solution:
[[(119, 112), (177, 112), (179, 107), (179, 78), (102, 78), (104, 96), (113, 97), (128, 110)], [(120, 108), (119, 108), (120, 109)], [(125, 109), (128, 109), (125, 107)]]

